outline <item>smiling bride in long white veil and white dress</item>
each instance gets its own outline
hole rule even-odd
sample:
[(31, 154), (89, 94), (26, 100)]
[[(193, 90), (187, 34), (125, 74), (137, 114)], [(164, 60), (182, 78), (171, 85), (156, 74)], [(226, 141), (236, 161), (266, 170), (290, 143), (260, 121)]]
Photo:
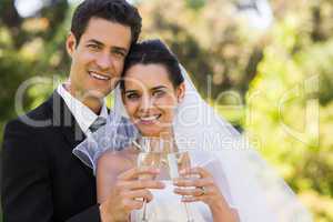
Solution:
[[(122, 208), (123, 219), (132, 214), (132, 221), (140, 221), (140, 211), (137, 210), (143, 208), (142, 198), (151, 202), (149, 216), (152, 221), (183, 222), (186, 218), (185, 209), (176, 195), (171, 194), (170, 182), (138, 181), (140, 173), (160, 173), (155, 169), (140, 171), (137, 168), (139, 151), (129, 138), (135, 141), (138, 134), (175, 140), (180, 150), (194, 149), (191, 157), (195, 168), (184, 174), (196, 174), (198, 178), (175, 180), (173, 192), (186, 196), (182, 201), (191, 203), (195, 222), (291, 221), (294, 213), (306, 214), (293, 193), (286, 191), (283, 181), (268, 174), (271, 171), (265, 171), (268, 168), (260, 157), (249, 150), (248, 143), (242, 143), (233, 128), (200, 98), (175, 57), (161, 41), (145, 41), (133, 47), (125, 62), (120, 90), (118, 95), (121, 94), (122, 100), (117, 100), (109, 124), (98, 132), (100, 135), (107, 133), (112, 141), (108, 140), (103, 145), (101, 141), (105, 137), (95, 135), (88, 140), (93, 145), (82, 143), (74, 153), (85, 163), (98, 165), (98, 201), (114, 195), (114, 203)], [(124, 127), (127, 121), (119, 117), (120, 113), (129, 117), (139, 133), (131, 125)], [(115, 149), (122, 150), (108, 152)], [(258, 165), (261, 169), (256, 169)], [(262, 172), (260, 176), (259, 171)], [(268, 181), (273, 181), (270, 189)], [(171, 204), (165, 204), (170, 201)], [(285, 203), (291, 203), (292, 209), (286, 209)]]

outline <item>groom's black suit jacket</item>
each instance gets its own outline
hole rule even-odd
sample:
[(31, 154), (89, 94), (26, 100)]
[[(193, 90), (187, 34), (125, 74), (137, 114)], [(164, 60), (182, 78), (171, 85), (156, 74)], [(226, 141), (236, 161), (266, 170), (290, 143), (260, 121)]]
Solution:
[(95, 178), (72, 154), (84, 134), (62, 98), (52, 97), (4, 130), (4, 222), (97, 222)]

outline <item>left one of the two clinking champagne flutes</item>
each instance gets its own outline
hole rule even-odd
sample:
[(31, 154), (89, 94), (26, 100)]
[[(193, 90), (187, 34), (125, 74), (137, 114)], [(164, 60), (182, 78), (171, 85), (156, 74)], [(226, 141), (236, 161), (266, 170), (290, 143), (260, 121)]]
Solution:
[[(163, 140), (160, 138), (143, 137), (139, 140), (138, 147), (140, 148), (140, 153), (138, 157), (139, 168), (160, 168), (161, 158), (163, 151)], [(139, 180), (154, 180), (155, 176), (151, 174), (143, 174)], [(143, 199), (143, 212), (141, 222), (148, 222), (147, 218), (147, 199)]]

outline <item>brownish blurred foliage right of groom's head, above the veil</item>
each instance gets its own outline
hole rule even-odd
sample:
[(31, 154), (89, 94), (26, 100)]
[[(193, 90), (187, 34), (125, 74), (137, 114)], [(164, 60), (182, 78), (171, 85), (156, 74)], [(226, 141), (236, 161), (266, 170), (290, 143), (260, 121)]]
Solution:
[(233, 14), (232, 3), (206, 2), (141, 1), (142, 37), (162, 38), (193, 73), (202, 95), (224, 102), (219, 98), (222, 89), (244, 95), (262, 59), (264, 42), (261, 38), (246, 37), (249, 30), (244, 21)]

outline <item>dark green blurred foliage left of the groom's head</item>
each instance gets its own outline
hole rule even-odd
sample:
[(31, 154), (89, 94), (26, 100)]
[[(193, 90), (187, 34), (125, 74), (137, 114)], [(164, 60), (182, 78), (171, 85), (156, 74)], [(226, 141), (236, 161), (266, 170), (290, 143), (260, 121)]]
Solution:
[[(0, 89), (0, 122), (23, 112), (16, 112), (13, 101), (24, 82), (29, 87), (23, 107), (29, 109), (36, 103), (38, 98), (30, 94), (33, 82), (27, 80), (36, 75), (52, 79), (53, 74), (68, 72), (69, 59), (63, 42), (68, 32), (69, 3), (65, 0), (48, 2), (31, 18), (21, 18), (14, 1), (0, 3), (0, 82), (4, 85)], [(51, 83), (48, 93), (38, 93), (38, 100), (46, 98), (52, 87)]]

